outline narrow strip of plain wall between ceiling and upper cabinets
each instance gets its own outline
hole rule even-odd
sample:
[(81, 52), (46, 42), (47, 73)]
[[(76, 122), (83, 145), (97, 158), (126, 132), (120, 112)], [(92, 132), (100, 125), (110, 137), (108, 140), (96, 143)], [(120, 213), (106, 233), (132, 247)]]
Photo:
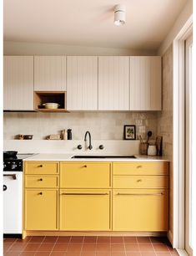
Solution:
[(3, 42), (4, 55), (156, 55), (156, 51), (85, 47), (65, 44), (40, 44), (27, 42)]

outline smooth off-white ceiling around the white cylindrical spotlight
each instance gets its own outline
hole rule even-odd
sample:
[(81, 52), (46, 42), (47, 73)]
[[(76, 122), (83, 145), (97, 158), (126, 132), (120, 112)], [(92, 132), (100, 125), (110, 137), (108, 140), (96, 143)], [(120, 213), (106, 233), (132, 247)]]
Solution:
[[(4, 0), (4, 40), (158, 49), (187, 0)], [(126, 24), (113, 7), (126, 6)]]

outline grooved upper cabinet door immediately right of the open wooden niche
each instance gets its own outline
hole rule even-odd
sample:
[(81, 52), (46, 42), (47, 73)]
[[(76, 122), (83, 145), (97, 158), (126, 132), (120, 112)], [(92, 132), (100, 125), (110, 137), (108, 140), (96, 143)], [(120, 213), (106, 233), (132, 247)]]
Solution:
[(67, 57), (67, 109), (98, 110), (98, 57)]

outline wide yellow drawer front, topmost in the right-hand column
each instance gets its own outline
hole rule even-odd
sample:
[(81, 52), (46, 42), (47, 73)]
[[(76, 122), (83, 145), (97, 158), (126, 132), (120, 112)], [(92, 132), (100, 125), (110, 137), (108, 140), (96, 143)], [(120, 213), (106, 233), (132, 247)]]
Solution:
[(168, 162), (116, 162), (113, 175), (168, 175)]

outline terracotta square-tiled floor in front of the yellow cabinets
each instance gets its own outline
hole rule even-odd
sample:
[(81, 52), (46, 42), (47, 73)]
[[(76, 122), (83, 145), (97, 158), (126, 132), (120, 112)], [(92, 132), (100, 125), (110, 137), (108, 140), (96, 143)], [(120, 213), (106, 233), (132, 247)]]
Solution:
[(171, 256), (167, 238), (28, 237), (4, 238), (6, 256)]

